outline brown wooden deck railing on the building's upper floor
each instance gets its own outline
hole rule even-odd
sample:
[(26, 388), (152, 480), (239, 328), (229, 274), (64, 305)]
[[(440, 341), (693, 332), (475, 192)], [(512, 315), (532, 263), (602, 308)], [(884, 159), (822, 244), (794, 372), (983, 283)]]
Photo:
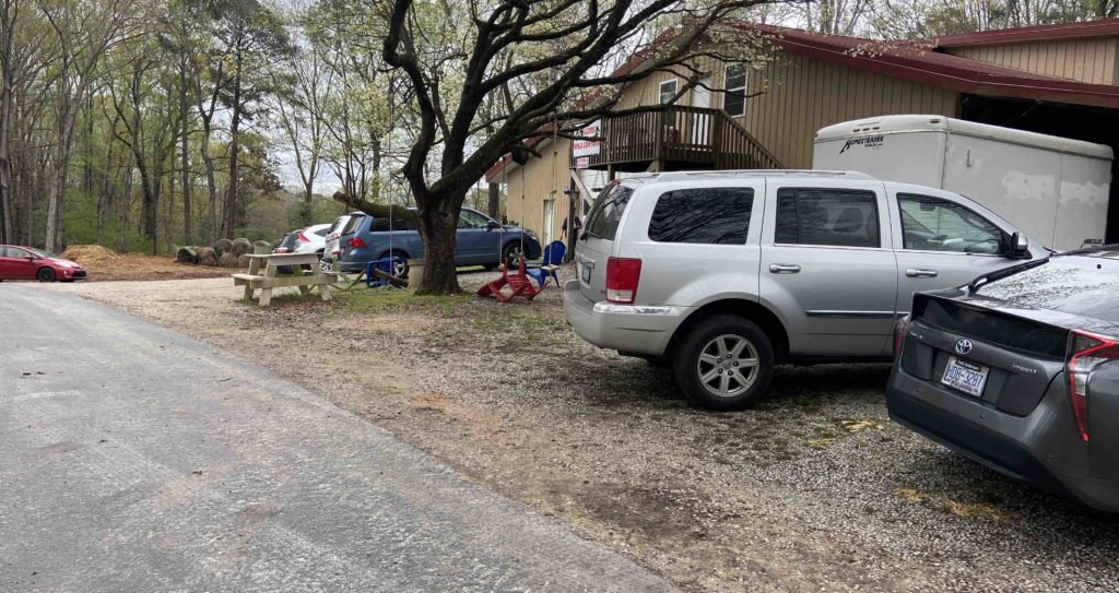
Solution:
[(599, 153), (586, 157), (587, 167), (660, 160), (713, 169), (783, 168), (723, 110), (673, 106), (608, 115), (600, 138)]

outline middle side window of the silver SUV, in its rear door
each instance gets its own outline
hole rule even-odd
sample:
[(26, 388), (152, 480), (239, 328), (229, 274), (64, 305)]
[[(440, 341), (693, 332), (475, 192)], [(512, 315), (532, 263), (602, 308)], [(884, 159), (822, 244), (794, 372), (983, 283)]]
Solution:
[(881, 247), (877, 198), (858, 189), (781, 188), (774, 243)]

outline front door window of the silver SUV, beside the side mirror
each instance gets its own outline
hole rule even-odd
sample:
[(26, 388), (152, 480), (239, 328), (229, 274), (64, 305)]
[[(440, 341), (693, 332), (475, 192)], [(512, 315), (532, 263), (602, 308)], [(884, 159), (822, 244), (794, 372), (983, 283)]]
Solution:
[(899, 194), (897, 207), (906, 250), (990, 254), (1003, 251), (1003, 232), (959, 204)]

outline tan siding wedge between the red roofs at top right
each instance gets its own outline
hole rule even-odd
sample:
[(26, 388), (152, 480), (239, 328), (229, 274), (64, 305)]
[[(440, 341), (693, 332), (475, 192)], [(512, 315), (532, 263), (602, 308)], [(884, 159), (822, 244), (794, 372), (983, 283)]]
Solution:
[(1090, 84), (1119, 84), (1119, 38), (947, 48), (949, 54)]

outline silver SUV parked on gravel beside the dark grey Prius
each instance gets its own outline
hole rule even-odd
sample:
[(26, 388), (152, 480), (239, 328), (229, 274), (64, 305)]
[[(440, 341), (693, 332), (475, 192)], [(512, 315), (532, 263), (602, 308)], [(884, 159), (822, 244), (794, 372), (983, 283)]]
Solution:
[(716, 410), (749, 406), (779, 363), (887, 360), (914, 292), (1040, 255), (974, 200), (849, 171), (640, 175), (583, 229), (567, 321)]

